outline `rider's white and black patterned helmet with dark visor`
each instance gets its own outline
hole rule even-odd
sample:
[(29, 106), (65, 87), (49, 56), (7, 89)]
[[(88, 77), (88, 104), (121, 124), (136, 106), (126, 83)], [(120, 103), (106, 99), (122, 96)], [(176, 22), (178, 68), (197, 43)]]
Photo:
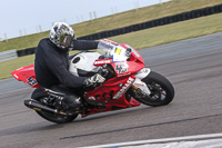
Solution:
[(74, 30), (65, 22), (56, 22), (49, 39), (60, 49), (69, 51), (74, 40)]

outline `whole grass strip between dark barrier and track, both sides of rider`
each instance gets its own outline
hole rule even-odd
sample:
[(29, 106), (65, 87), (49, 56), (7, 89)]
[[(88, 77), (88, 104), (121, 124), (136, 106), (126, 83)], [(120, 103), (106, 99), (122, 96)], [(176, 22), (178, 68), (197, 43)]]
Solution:
[[(128, 43), (135, 49), (153, 47), (172, 41), (210, 34), (222, 31), (222, 13), (202, 17), (189, 21), (182, 21), (168, 26), (145, 29), (118, 37), (109, 38), (120, 43)], [(77, 51), (72, 51), (74, 53)], [(34, 62), (34, 55), (20, 57), (13, 60), (0, 62), (0, 79), (10, 78), (11, 71)]]

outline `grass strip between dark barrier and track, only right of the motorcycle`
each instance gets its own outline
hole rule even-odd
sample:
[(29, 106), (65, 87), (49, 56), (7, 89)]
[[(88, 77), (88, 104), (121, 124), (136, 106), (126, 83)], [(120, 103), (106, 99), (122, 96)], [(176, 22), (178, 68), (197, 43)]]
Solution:
[(110, 38), (143, 49), (222, 31), (222, 13)]

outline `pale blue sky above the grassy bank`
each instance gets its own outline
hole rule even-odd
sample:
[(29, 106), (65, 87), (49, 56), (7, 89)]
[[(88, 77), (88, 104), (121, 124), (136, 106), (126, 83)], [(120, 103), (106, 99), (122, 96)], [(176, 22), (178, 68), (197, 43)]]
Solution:
[(53, 22), (70, 24), (170, 0), (0, 0), (0, 40), (47, 31)]

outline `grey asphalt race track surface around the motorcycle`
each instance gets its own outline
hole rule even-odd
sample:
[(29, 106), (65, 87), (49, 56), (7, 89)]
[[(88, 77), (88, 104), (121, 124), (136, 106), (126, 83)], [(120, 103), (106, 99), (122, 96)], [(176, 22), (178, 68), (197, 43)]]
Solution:
[(222, 32), (140, 50), (174, 86), (164, 107), (140, 106), (57, 125), (23, 106), (32, 90), (0, 81), (0, 147), (60, 148), (222, 132)]

